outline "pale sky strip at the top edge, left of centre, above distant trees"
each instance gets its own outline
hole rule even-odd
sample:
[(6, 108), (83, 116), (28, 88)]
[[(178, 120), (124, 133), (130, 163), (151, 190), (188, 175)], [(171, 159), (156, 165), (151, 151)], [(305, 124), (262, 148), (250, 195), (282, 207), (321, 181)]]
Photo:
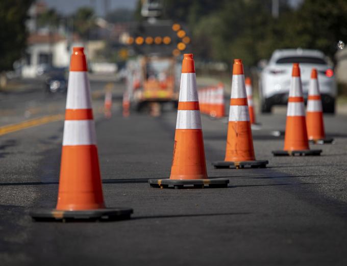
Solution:
[(109, 10), (116, 8), (135, 9), (138, 0), (41, 0), (49, 8), (55, 8), (60, 13), (71, 14), (83, 6), (93, 7), (99, 16), (105, 15), (105, 3), (109, 3)]

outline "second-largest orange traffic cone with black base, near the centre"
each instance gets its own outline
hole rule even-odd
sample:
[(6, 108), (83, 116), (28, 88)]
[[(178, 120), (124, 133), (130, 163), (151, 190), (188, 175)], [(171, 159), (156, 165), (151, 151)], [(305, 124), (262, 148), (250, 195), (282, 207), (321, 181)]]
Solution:
[(196, 90), (192, 54), (184, 54), (181, 88), (177, 113), (174, 154), (169, 179), (150, 179), (152, 187), (175, 189), (185, 185), (196, 188), (227, 187), (229, 179), (208, 179), (206, 171), (203, 132)]

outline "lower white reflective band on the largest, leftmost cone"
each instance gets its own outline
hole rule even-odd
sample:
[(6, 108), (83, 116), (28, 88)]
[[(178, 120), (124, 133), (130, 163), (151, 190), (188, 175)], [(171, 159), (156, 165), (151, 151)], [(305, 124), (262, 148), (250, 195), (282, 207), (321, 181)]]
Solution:
[(63, 146), (96, 144), (94, 120), (65, 120)]

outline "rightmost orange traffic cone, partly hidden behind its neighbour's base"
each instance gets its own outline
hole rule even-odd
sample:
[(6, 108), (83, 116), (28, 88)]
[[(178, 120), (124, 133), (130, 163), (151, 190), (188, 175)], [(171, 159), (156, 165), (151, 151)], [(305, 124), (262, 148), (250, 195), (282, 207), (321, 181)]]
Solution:
[(309, 141), (316, 144), (332, 143), (333, 139), (326, 139), (323, 121), (323, 108), (319, 93), (317, 70), (312, 68), (311, 81), (308, 90), (306, 125)]

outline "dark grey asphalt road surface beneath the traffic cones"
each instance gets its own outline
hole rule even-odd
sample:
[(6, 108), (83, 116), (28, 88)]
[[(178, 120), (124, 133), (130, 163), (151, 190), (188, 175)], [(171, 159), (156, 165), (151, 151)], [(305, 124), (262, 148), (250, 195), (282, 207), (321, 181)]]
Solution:
[[(227, 189), (160, 190), (170, 174), (176, 112), (122, 118), (122, 84), (105, 119), (102, 82), (91, 84), (103, 189), (109, 207), (132, 207), (131, 220), (33, 222), (29, 210), (55, 207), (63, 120), (0, 136), (1, 265), (347, 265), (347, 123), (326, 116), (333, 145), (321, 156), (273, 157), (283, 148), (285, 114), (259, 116), (253, 130), (266, 169), (213, 169), (225, 155), (225, 120), (203, 116), (210, 177)], [(2, 126), (64, 112), (65, 95), (0, 93)]]

